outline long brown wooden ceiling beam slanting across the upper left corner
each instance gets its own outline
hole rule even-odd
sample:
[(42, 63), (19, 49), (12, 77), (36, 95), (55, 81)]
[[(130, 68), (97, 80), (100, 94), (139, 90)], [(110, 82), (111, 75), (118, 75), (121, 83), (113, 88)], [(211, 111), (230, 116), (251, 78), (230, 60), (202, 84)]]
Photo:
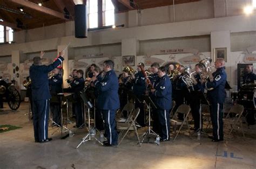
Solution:
[(60, 18), (60, 19), (63, 19), (63, 20), (69, 20), (69, 19), (66, 19), (64, 17), (64, 13), (57, 12), (55, 10), (46, 8), (44, 6), (39, 6), (35, 3), (29, 2), (29, 1), (26, 1), (26, 0), (9, 0), (9, 2), (14, 2), (16, 4), (25, 6), (26, 8), (30, 8), (30, 9), (36, 10), (38, 12), (42, 12), (42, 13), (45, 13), (47, 15), (54, 16), (56, 18)]

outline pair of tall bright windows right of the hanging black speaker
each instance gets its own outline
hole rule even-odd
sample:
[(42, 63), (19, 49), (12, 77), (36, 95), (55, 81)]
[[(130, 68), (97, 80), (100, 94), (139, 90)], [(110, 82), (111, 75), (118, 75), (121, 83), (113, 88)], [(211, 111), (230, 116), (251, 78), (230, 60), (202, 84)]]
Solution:
[(114, 5), (111, 0), (87, 0), (87, 15), (90, 29), (114, 25)]

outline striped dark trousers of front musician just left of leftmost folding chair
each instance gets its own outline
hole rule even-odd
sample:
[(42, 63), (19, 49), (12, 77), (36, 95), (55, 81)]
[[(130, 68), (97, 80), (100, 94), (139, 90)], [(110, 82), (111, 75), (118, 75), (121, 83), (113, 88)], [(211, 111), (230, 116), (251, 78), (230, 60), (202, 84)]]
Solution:
[(116, 128), (116, 110), (101, 110), (105, 122), (105, 134), (107, 142), (111, 145), (118, 144), (118, 134)]

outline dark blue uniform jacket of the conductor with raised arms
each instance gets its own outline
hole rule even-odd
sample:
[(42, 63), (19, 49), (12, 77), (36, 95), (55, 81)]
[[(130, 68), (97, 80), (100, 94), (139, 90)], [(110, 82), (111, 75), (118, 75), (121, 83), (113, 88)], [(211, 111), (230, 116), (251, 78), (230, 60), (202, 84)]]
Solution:
[(32, 65), (29, 69), (32, 85), (32, 100), (47, 100), (51, 98), (49, 90), (48, 73), (62, 63), (64, 58), (59, 57), (53, 64)]

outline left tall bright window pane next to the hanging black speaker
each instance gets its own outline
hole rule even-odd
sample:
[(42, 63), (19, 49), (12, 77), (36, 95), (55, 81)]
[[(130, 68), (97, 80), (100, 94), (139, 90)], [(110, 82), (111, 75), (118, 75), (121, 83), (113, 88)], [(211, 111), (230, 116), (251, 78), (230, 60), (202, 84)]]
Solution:
[(89, 28), (98, 27), (98, 1), (88, 0), (87, 6)]

